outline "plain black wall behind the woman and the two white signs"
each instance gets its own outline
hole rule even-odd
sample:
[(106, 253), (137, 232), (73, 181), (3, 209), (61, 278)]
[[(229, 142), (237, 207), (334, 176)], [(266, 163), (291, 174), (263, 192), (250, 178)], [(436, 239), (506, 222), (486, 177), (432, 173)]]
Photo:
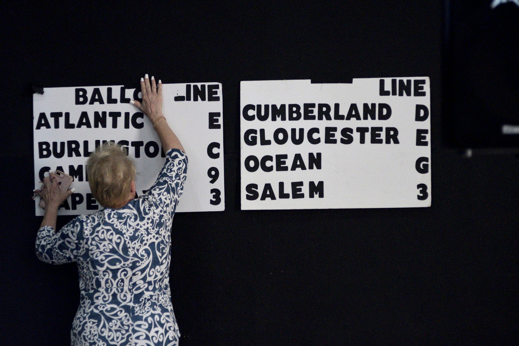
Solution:
[[(223, 84), (225, 212), (173, 223), (182, 345), (517, 344), (517, 159), (442, 144), (442, 13), (440, 1), (4, 6), (0, 344), (69, 344), (79, 303), (75, 265), (34, 254), (31, 84), (135, 87), (144, 73)], [(430, 208), (240, 210), (240, 80), (404, 76), (431, 78)]]

